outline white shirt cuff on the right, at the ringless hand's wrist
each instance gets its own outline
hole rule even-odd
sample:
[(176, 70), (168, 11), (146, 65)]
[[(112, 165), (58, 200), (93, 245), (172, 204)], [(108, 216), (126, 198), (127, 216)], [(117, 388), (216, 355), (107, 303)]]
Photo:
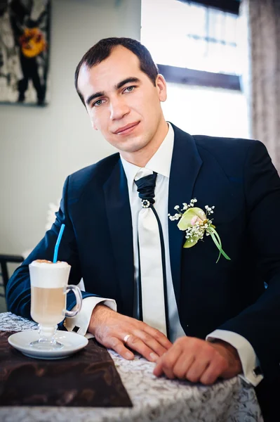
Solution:
[(257, 371), (260, 369), (260, 362), (251, 343), (243, 335), (227, 330), (215, 330), (207, 335), (206, 340), (211, 341), (215, 338), (224, 340), (236, 348), (243, 369), (243, 373), (239, 376), (254, 387), (258, 385), (263, 376)]

